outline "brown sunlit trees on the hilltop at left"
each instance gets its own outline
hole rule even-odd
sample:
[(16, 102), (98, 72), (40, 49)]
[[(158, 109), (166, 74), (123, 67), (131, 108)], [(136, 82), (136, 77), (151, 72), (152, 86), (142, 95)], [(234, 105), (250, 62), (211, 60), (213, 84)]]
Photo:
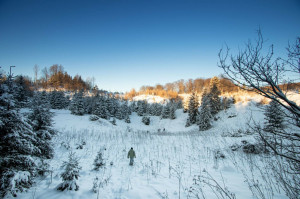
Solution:
[(56, 89), (56, 90), (90, 90), (94, 87), (93, 80), (84, 81), (80, 75), (70, 76), (62, 65), (54, 64), (49, 68), (45, 67), (42, 75), (38, 78), (39, 68), (34, 67), (35, 78), (33, 85), (36, 88)]

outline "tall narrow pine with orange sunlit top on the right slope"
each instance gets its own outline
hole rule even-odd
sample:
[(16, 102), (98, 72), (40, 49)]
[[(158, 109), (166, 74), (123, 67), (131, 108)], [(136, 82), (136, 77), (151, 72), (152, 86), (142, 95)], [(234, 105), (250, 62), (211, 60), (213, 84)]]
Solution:
[(209, 97), (210, 99), (210, 109), (211, 114), (216, 115), (221, 110), (221, 99), (220, 99), (220, 90), (219, 86), (219, 79), (217, 77), (213, 77), (210, 80), (210, 90), (209, 90)]

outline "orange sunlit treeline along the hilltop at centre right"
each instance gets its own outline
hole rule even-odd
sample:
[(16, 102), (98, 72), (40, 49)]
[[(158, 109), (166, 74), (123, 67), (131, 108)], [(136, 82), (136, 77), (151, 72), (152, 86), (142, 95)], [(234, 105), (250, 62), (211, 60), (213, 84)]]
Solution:
[[(226, 78), (219, 79), (219, 90), (221, 93), (237, 92), (239, 88), (235, 86), (230, 80)], [(132, 99), (137, 95), (158, 95), (161, 97), (175, 99), (179, 94), (193, 92), (202, 93), (205, 88), (209, 88), (211, 78), (208, 79), (189, 79), (178, 80), (173, 83), (167, 83), (165, 85), (157, 84), (156, 86), (142, 86), (139, 91), (132, 89), (130, 92), (125, 94), (126, 99)]]

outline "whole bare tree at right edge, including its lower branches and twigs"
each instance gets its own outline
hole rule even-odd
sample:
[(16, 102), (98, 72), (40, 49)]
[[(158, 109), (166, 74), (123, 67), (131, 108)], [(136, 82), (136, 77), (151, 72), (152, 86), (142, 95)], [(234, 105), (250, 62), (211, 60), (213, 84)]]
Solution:
[[(288, 88), (300, 78), (300, 37), (294, 45), (287, 48), (286, 59), (275, 57), (273, 45), (266, 51), (262, 33), (258, 30), (258, 39), (253, 44), (246, 44), (244, 50), (237, 55), (229, 53), (229, 48), (219, 52), (219, 67), (225, 72), (227, 78), (242, 89), (255, 91), (256, 93), (278, 102), (285, 108), (285, 117), (293, 128), (276, 133), (282, 141), (280, 150), (269, 142), (263, 128), (259, 124), (251, 127), (256, 131), (262, 141), (271, 149), (277, 157), (285, 161), (270, 162), (274, 172), (285, 176), (276, 177), (285, 193), (290, 198), (299, 196), (300, 189), (297, 186), (300, 178), (300, 107), (287, 95)], [(279, 165), (279, 166), (278, 166)], [(283, 171), (284, 170), (284, 171)]]

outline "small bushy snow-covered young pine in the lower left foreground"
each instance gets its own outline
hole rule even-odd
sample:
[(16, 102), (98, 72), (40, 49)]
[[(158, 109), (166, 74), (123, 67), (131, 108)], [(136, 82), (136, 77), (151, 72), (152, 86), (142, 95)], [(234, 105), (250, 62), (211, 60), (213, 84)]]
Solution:
[(79, 166), (78, 159), (75, 157), (75, 153), (70, 153), (68, 161), (64, 161), (62, 167), (65, 169), (60, 175), (63, 182), (58, 186), (57, 190), (79, 190), (79, 186), (76, 180), (79, 178), (79, 171), (81, 167)]

